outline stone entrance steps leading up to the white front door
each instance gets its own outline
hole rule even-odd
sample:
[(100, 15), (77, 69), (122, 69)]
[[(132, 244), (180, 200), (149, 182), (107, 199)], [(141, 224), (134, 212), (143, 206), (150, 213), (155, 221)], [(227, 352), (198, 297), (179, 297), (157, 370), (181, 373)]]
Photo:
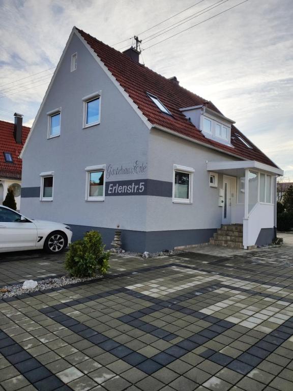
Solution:
[[(243, 224), (221, 225), (217, 233), (210, 239), (210, 244), (217, 246), (224, 246), (230, 248), (244, 248), (243, 247)], [(249, 249), (257, 246), (249, 246)]]

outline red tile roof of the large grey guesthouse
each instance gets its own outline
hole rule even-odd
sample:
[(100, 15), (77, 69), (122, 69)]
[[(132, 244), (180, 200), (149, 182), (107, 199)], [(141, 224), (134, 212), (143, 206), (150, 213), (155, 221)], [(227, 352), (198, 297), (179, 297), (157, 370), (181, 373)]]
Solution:
[[(183, 107), (202, 105), (207, 102), (206, 99), (186, 90), (144, 65), (136, 63), (127, 57), (126, 54), (98, 41), (90, 34), (79, 29), (77, 29), (77, 31), (95, 51), (111, 74), (138, 106), (143, 115), (147, 117), (153, 125), (160, 125), (168, 128), (201, 143), (207, 144), (207, 146), (216, 147), (223, 152), (232, 153), (239, 158), (256, 160), (277, 167), (272, 160), (254, 146), (235, 126), (232, 125), (231, 128), (231, 144), (234, 147), (232, 148), (204, 137), (204, 135), (189, 122), (179, 110)], [(157, 96), (169, 109), (172, 116), (163, 114), (147, 96), (147, 92)], [(221, 113), (212, 102), (208, 102), (208, 107)], [(248, 148), (240, 141), (235, 133), (238, 133), (243, 137), (243, 139), (253, 148)]]

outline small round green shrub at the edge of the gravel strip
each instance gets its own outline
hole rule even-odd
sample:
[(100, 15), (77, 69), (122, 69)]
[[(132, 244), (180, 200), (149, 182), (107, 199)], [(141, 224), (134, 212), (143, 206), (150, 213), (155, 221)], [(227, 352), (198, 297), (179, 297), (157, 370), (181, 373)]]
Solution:
[(83, 239), (70, 244), (65, 269), (74, 277), (92, 277), (96, 273), (105, 275), (110, 253), (104, 249), (100, 233), (87, 232)]

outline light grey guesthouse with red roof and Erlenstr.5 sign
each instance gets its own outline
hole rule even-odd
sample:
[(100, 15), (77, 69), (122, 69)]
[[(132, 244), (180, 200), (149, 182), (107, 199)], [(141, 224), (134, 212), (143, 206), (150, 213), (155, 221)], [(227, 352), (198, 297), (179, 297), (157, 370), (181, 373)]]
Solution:
[(73, 28), (21, 154), (21, 212), (74, 239), (98, 230), (108, 247), (119, 225), (141, 252), (208, 242), (221, 224), (243, 224), (245, 248), (270, 243), (282, 170), (138, 59)]

